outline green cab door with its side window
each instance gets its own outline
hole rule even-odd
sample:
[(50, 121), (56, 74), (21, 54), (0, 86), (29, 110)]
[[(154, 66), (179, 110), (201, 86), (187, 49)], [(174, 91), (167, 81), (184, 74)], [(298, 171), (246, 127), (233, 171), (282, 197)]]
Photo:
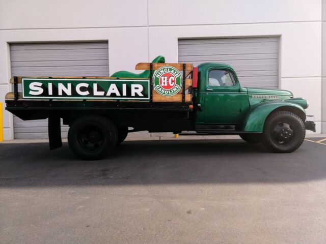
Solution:
[(203, 94), (204, 123), (236, 125), (249, 109), (247, 89), (242, 88), (232, 70), (210, 69)]

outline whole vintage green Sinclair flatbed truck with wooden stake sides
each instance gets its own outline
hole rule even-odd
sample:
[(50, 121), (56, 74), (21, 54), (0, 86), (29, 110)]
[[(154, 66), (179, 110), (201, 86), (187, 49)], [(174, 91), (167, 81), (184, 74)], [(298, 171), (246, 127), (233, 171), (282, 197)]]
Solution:
[[(111, 77), (13, 77), (6, 109), (23, 120), (48, 118), (50, 149), (68, 143), (83, 159), (110, 154), (128, 133), (239, 135), (270, 150), (291, 153), (304, 141), (308, 102), (287, 90), (242, 87), (222, 63), (167, 64), (162, 56), (140, 63), (140, 74)], [(22, 84), (22, 93), (18, 85)]]

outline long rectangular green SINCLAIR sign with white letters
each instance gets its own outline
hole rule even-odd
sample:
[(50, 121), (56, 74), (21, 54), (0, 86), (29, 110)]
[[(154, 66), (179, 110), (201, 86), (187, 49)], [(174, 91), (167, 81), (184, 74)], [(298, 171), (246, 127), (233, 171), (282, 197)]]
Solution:
[(21, 78), (22, 97), (33, 99), (149, 100), (149, 80)]

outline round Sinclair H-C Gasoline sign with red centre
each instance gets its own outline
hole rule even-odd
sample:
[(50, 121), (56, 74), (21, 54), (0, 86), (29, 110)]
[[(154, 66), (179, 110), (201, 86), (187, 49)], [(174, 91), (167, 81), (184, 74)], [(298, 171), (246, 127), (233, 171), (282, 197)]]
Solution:
[(164, 66), (155, 71), (153, 85), (156, 92), (162, 96), (173, 96), (182, 87), (180, 72), (171, 66)]

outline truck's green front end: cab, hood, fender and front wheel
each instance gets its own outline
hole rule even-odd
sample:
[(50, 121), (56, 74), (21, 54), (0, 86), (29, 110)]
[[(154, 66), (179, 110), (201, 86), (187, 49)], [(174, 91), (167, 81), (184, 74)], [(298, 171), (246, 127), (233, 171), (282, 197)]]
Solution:
[(306, 121), (306, 100), (288, 90), (242, 87), (227, 64), (198, 66), (194, 100), (197, 133), (238, 134), (272, 151), (290, 152), (301, 145), (305, 130), (315, 131)]

